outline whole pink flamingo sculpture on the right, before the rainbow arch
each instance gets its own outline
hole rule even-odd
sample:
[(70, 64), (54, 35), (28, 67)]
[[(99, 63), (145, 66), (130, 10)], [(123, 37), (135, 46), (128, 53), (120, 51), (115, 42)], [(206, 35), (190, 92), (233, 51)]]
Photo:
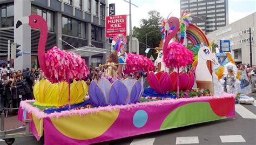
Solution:
[[(192, 64), (193, 53), (180, 43), (174, 42), (169, 44), (170, 40), (176, 36), (179, 30), (179, 19), (176, 17), (171, 17), (167, 20), (167, 23), (169, 24), (169, 27), (174, 26), (174, 29), (166, 36), (163, 46), (163, 59), (166, 67), (169, 67), (170, 69), (177, 67), (179, 74), (180, 66), (185, 67), (188, 64)], [(179, 75), (177, 78), (177, 95), (179, 98)]]

